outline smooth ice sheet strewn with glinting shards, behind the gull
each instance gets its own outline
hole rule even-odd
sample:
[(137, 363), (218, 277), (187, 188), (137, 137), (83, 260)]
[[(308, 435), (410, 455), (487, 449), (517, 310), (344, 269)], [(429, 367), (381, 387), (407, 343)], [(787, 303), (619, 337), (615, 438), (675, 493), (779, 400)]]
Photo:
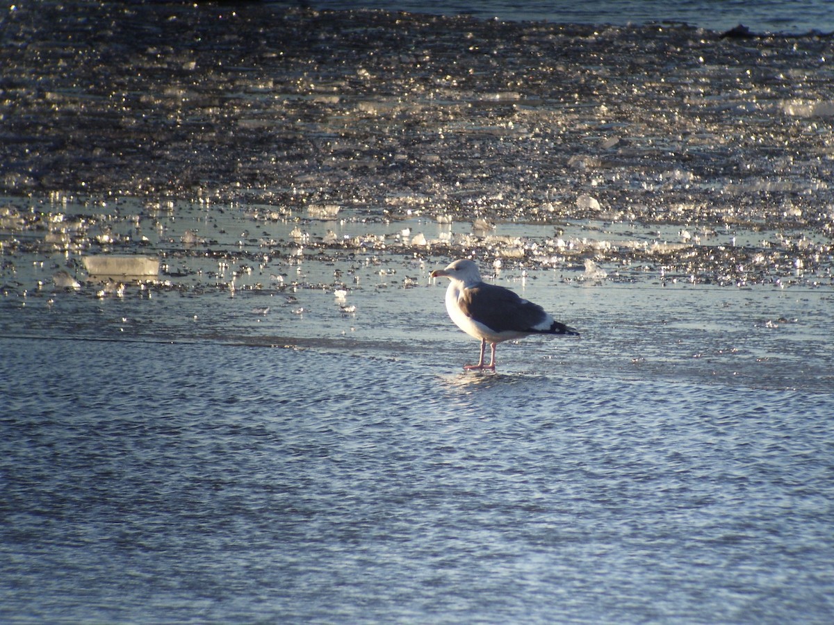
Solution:
[[(743, 238), (767, 236), (761, 231), (670, 246), (654, 228), (588, 220), (566, 223), (558, 235), (552, 225), (525, 223), (475, 235), (467, 222), (376, 220), (349, 210), (332, 220), (264, 220), (253, 209), (186, 203), (162, 213), (127, 200), (19, 205), (24, 225), (5, 237), (2, 273), (0, 334), (8, 338), (276, 345), (456, 367), (477, 345), (450, 323), (446, 285), (429, 274), (446, 254), (472, 249), (498, 257), (480, 260), (488, 280), (582, 333), (580, 341), (504, 344), (502, 369), (570, 363), (586, 375), (819, 391), (834, 375), (831, 261), (825, 270), (796, 267), (797, 258), (811, 265), (816, 244), (789, 256), (787, 243), (774, 243), (778, 264), (716, 262), (761, 254)], [(63, 233), (60, 243), (54, 233)], [(196, 240), (184, 241), (185, 233)], [(416, 236), (428, 244), (414, 244)], [(131, 281), (84, 270), (84, 258), (113, 253), (160, 258), (160, 273)], [(61, 273), (77, 288), (56, 283)]]

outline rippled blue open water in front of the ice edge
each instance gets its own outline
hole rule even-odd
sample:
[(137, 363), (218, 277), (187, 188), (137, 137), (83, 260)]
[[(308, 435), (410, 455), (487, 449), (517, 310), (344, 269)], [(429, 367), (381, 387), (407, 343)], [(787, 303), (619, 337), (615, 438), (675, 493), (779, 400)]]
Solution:
[(830, 394), (216, 343), (3, 351), (4, 619), (834, 613)]

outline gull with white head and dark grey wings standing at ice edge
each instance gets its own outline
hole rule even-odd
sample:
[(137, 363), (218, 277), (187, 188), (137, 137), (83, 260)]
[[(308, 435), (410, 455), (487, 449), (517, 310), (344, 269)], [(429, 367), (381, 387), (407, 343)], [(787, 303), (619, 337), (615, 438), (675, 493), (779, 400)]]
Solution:
[[(485, 283), (478, 266), (465, 258), (445, 269), (436, 269), (431, 277), (450, 279), (446, 311), (458, 328), (480, 339), (478, 364), (465, 365), (466, 370), (495, 371), (495, 346), (502, 341), (530, 334), (579, 336), (574, 328), (554, 321), (544, 308), (520, 298), (509, 288)], [(486, 343), (490, 343), (492, 352), (488, 365), (484, 364)]]

